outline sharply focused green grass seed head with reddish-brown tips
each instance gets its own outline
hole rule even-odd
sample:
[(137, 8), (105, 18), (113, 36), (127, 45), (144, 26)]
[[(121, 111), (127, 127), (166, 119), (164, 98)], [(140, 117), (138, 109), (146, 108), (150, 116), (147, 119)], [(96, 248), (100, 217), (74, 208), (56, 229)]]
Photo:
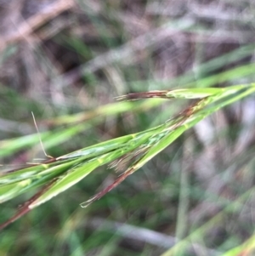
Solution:
[[(0, 174), (0, 203), (7, 202), (26, 191), (39, 188), (37, 193), (25, 202), (17, 213), (2, 225), (3, 229), (43, 202), (66, 191), (72, 185), (85, 178), (95, 168), (111, 164), (111, 168), (120, 168), (128, 163), (128, 168), (103, 191), (82, 202), (82, 208), (111, 191), (128, 175), (139, 168), (159, 152), (170, 145), (187, 129), (208, 117), (226, 105), (255, 92), (255, 83), (236, 85), (228, 88), (183, 88), (175, 90), (151, 91), (127, 94), (117, 100), (139, 100), (147, 98), (187, 99), (193, 103), (178, 115), (170, 117), (167, 122), (71, 152), (65, 156), (50, 158), (42, 163), (27, 164), (26, 168), (11, 170)], [(195, 100), (195, 103), (194, 103)]]

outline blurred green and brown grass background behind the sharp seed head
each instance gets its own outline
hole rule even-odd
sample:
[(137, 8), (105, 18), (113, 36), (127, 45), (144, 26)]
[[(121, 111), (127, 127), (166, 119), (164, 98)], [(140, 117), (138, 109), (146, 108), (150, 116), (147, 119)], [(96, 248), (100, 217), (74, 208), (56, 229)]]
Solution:
[[(255, 81), (252, 0), (0, 3), (1, 172), (161, 124), (188, 100), (130, 92)], [(0, 234), (0, 255), (253, 255), (254, 95), (181, 136), (88, 208), (98, 168)], [(31, 191), (1, 204), (10, 218)]]

